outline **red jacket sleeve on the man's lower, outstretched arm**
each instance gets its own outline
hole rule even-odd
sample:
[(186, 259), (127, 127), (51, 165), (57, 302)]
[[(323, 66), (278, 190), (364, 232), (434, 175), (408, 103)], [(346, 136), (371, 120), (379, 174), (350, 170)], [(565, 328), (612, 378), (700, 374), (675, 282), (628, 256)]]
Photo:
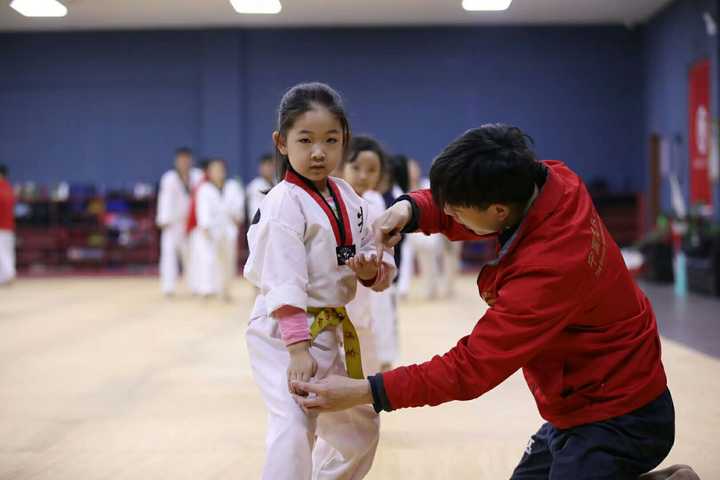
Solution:
[(558, 267), (508, 278), (470, 335), (442, 356), (382, 374), (386, 410), (479, 397), (529, 362), (581, 308), (577, 276)]

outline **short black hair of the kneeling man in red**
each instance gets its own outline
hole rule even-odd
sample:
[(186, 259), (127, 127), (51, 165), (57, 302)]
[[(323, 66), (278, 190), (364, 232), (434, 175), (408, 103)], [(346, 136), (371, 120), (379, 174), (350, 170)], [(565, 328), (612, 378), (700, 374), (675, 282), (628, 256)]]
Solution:
[(468, 130), (433, 161), (435, 202), (483, 210), (494, 203), (524, 205), (543, 168), (531, 143), (522, 130), (502, 123)]

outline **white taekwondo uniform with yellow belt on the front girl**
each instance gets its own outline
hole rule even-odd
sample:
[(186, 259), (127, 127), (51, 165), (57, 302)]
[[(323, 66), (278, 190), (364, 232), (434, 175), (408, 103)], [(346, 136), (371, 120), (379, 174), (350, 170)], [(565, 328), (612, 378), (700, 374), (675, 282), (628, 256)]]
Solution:
[[(343, 412), (306, 415), (287, 386), (289, 354), (272, 313), (289, 305), (308, 311), (318, 364), (314, 378), (362, 377), (357, 332), (343, 308), (355, 296), (357, 277), (345, 261), (356, 252), (376, 252), (368, 202), (345, 181), (328, 179), (335, 209), (307, 179), (288, 172), (265, 197), (248, 232), (245, 277), (260, 293), (250, 316), (247, 345), (255, 381), (269, 411), (264, 479), (360, 479), (369, 471), (379, 422), (369, 405)], [(373, 288), (394, 276), (392, 253)], [(342, 321), (316, 328), (327, 312)], [(363, 339), (360, 339), (362, 342)], [(361, 351), (361, 350), (360, 350)], [(316, 439), (317, 436), (317, 439)]]

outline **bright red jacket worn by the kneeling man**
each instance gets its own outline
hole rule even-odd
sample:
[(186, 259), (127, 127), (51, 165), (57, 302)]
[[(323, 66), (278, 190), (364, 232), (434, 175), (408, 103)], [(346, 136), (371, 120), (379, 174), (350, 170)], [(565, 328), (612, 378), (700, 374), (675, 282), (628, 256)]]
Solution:
[[(492, 306), (442, 356), (382, 375), (391, 408), (470, 400), (523, 369), (540, 414), (557, 428), (635, 410), (666, 388), (650, 302), (630, 276), (584, 184), (563, 163), (515, 234), (478, 276)], [(477, 239), (412, 194), (420, 229)]]

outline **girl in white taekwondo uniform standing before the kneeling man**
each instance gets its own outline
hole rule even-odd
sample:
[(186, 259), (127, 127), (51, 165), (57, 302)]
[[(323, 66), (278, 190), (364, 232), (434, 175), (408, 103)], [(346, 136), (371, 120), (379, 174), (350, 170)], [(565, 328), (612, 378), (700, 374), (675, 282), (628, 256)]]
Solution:
[(254, 215), (245, 265), (260, 289), (247, 344), (269, 410), (268, 480), (360, 479), (375, 456), (379, 422), (370, 406), (306, 414), (290, 387), (329, 374), (363, 378), (344, 307), (358, 281), (382, 290), (394, 275), (391, 252), (381, 262), (373, 255), (367, 201), (329, 177), (349, 137), (340, 97), (327, 85), (297, 85), (283, 97), (273, 133), (283, 181)]

